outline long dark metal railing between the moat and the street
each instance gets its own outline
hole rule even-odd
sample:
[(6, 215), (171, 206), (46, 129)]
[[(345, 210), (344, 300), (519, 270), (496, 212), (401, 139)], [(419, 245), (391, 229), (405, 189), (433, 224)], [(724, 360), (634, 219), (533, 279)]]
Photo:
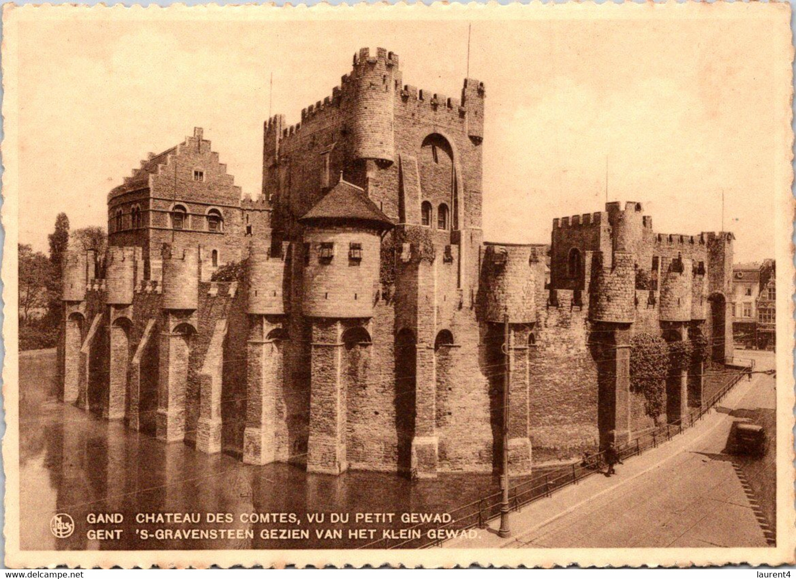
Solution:
[[(742, 361), (743, 365), (740, 365)], [(648, 449), (654, 449), (657, 445), (671, 440), (672, 437), (683, 432), (683, 430), (694, 426), (694, 424), (699, 422), (713, 406), (716, 406), (716, 404), (728, 394), (732, 387), (734, 387), (744, 375), (748, 375), (749, 379), (751, 379), (751, 371), (755, 368), (755, 361), (753, 359), (727, 359), (725, 360), (725, 367), (727, 366), (739, 367), (739, 371), (734, 372), (728, 378), (727, 383), (724, 383), (708, 399), (702, 400), (699, 408), (693, 408), (689, 414), (686, 414), (675, 422), (657, 426), (626, 444), (619, 445), (618, 451), (620, 460), (635, 457)], [(510, 486), (509, 507), (512, 511), (519, 511), (521, 507), (525, 507), (525, 505), (548, 497), (560, 488), (567, 487), (570, 484), (578, 484), (580, 480), (583, 480), (587, 476), (601, 472), (605, 464), (604, 452), (605, 451), (595, 453), (584, 458), (583, 461), (579, 463), (556, 468), (556, 470), (552, 472), (547, 472), (544, 475), (535, 476), (529, 480)], [(444, 523), (443, 525), (434, 527), (429, 526), (427, 523), (419, 523), (414, 527), (408, 528), (408, 531), (410, 531), (408, 534), (410, 536), (412, 535), (412, 530), (419, 530), (419, 537), (403, 540), (381, 538), (359, 548), (423, 549), (431, 546), (439, 546), (449, 538), (453, 538), (452, 536), (447, 536), (446, 531), (448, 530), (453, 534), (457, 531), (460, 532), (474, 527), (486, 527), (487, 523), (500, 516), (500, 507), (501, 492), (497, 491), (475, 500), (472, 503), (457, 507), (453, 511), (447, 511), (448, 514), (451, 515), (450, 523)], [(427, 534), (427, 531), (431, 530), (431, 528), (435, 530), (434, 538), (430, 538)], [(442, 536), (439, 536), (440, 534)]]

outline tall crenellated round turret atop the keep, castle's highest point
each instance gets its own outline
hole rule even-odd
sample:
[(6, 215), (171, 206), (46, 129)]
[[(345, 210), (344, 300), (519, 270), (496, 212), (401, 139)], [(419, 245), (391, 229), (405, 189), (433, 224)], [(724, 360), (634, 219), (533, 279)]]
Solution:
[(398, 55), (360, 49), (353, 58), (351, 137), (355, 159), (393, 161), (393, 100)]

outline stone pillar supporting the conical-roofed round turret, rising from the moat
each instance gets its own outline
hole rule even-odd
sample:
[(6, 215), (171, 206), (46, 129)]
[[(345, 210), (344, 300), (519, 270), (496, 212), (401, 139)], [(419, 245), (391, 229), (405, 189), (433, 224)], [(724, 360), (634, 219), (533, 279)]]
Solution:
[(312, 321), (310, 436), (307, 472), (338, 475), (345, 472), (345, 387), (341, 379), (342, 326), (340, 321)]

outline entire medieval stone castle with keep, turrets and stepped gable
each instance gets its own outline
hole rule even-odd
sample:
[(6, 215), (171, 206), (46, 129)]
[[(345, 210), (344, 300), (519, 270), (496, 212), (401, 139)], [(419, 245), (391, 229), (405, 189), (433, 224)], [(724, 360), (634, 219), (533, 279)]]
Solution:
[[(732, 234), (655, 233), (609, 203), (554, 220), (549, 247), (485, 243), (485, 97), (418, 90), (361, 49), (301, 122), (265, 122), (257, 200), (201, 129), (150, 154), (108, 196), (104, 277), (65, 258), (64, 402), (330, 474), (499, 468), (507, 363), (514, 474), (649, 429), (630, 339), (732, 356)], [(699, 406), (701, 364), (667, 380), (659, 421)]]

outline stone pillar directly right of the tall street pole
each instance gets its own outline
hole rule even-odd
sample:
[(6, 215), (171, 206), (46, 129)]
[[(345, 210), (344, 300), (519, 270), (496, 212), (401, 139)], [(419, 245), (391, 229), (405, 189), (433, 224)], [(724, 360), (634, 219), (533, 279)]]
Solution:
[(509, 474), (531, 472), (529, 438), (529, 348), (528, 328), (516, 324), (509, 341)]

